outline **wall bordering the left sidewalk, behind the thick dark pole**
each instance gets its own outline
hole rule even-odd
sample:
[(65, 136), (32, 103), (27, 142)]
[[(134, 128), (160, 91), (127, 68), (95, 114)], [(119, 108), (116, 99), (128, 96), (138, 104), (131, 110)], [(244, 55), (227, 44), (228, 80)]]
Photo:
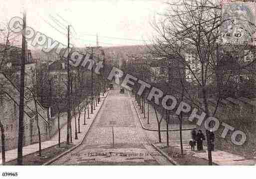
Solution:
[[(38, 130), (35, 115), (32, 116), (31, 112), (29, 113), (28, 110), (25, 111), (23, 146), (38, 142)], [(38, 113), (41, 115), (38, 115), (38, 124), (41, 132), (41, 141), (43, 142), (50, 138), (49, 128), (46, 123), (47, 110), (38, 105)], [(5, 101), (4, 105), (1, 107), (0, 116), (4, 126), (5, 150), (15, 149), (17, 148), (18, 142), (18, 106), (13, 101)]]

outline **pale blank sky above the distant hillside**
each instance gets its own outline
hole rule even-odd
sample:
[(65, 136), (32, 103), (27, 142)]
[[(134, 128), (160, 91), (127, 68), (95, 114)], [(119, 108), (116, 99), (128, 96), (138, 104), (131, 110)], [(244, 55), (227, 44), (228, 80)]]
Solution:
[(28, 26), (64, 44), (68, 24), (71, 43), (78, 47), (96, 45), (96, 34), (100, 46), (145, 44), (155, 34), (150, 22), (166, 9), (165, 1), (5, 0), (0, 22), (22, 17), (25, 7)]

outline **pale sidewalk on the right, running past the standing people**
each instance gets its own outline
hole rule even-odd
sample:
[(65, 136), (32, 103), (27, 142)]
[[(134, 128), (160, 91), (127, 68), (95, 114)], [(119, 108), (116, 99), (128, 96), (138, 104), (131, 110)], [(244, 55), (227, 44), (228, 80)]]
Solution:
[[(137, 105), (134, 97), (131, 97), (132, 100), (134, 101), (134, 106), (139, 114), (139, 119), (142, 122), (143, 127), (147, 129), (152, 129), (152, 130), (157, 130), (157, 120), (155, 116), (154, 109), (152, 106), (150, 106), (150, 113), (149, 113), (149, 118), (150, 118), (150, 124), (147, 124), (147, 110), (148, 110), (148, 105), (145, 104), (145, 111), (146, 111), (146, 119), (144, 118), (144, 114), (141, 113), (141, 109), (139, 109), (139, 106)], [(170, 119), (172, 120), (172, 119)], [(186, 119), (185, 119), (186, 120)], [(193, 128), (195, 125), (183, 125), (183, 128)], [(169, 125), (169, 130), (170, 129), (178, 129), (179, 125), (177, 124), (170, 124)], [(161, 130), (166, 130), (166, 122), (163, 119), (161, 123)], [(166, 146), (166, 132), (161, 132), (161, 138), (162, 138), (162, 143), (160, 144), (158, 141), (158, 132), (153, 132), (153, 131), (146, 131), (147, 136), (150, 140), (151, 143), (155, 144), (156, 147), (158, 147), (161, 150), (161, 147)], [(184, 149), (184, 154), (192, 154), (192, 156), (196, 157), (198, 160), (206, 160), (208, 161), (208, 152), (207, 152), (207, 147), (204, 146), (204, 151), (203, 152), (197, 152), (197, 151), (191, 151), (191, 147), (188, 144), (191, 136), (190, 136), (190, 131), (183, 131), (182, 132), (183, 136), (183, 149)], [(169, 142), (170, 142), (170, 147), (180, 150), (180, 135), (179, 131), (175, 132), (169, 132)], [(238, 156), (231, 154), (229, 152), (225, 151), (220, 151), (220, 150), (215, 150), (212, 151), (212, 158), (213, 162), (215, 165), (256, 165), (255, 160), (248, 160), (243, 156)], [(175, 158), (174, 158), (175, 160)]]

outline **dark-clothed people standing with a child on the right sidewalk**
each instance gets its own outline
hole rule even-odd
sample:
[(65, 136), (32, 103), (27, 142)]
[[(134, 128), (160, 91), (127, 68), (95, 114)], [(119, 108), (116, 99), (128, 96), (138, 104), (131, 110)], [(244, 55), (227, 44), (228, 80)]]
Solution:
[(201, 130), (192, 130), (191, 131), (191, 140), (189, 142), (189, 145), (191, 146), (191, 150), (195, 151), (195, 146), (197, 144), (197, 150), (202, 151), (203, 150), (203, 141), (205, 140), (205, 135), (202, 133)]

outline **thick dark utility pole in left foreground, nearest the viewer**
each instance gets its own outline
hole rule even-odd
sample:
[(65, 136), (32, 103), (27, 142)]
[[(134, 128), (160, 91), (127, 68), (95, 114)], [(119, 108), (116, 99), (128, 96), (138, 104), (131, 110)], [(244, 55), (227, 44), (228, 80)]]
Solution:
[[(22, 29), (26, 28), (26, 11), (23, 12)], [(19, 116), (18, 116), (18, 149), (17, 149), (17, 165), (22, 165), (22, 148), (24, 135), (24, 90), (25, 90), (25, 48), (26, 37), (22, 35), (21, 42), (21, 63), (20, 63), (20, 88), (19, 88)]]

